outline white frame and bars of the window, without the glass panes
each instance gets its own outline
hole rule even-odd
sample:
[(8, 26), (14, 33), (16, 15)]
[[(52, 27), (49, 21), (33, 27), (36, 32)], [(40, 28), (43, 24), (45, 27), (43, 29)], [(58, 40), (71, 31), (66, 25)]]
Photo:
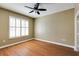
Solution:
[[(15, 19), (15, 26), (11, 26), (11, 24), (10, 24), (10, 19), (11, 19), (11, 17), (12, 18), (14, 18)], [(17, 19), (19, 19), (20, 20), (20, 27), (16, 27), (16, 21), (17, 21)], [(27, 22), (27, 27), (22, 27), (22, 21), (25, 21), (25, 22)], [(25, 23), (26, 24), (26, 23)], [(14, 30), (14, 32), (15, 32), (15, 34), (14, 34), (14, 37), (11, 37), (11, 29), (12, 28), (15, 28), (15, 30)], [(20, 34), (19, 34), (19, 36), (16, 36), (16, 34), (18, 33), (18, 32), (16, 32), (16, 29), (17, 28), (19, 28), (20, 29)], [(25, 31), (27, 31), (27, 32), (24, 32), (25, 33), (25, 35), (22, 35), (22, 28), (25, 28)], [(18, 18), (18, 17), (14, 17), (14, 16), (9, 16), (9, 38), (17, 38), (17, 37), (22, 37), (22, 36), (28, 36), (29, 35), (29, 21), (28, 20), (26, 20), (26, 19), (23, 19), (23, 18)]]

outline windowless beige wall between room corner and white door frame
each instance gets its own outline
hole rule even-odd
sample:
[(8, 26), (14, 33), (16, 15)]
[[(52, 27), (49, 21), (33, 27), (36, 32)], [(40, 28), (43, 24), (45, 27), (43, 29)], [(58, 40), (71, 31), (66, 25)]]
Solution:
[(65, 10), (35, 20), (35, 37), (74, 45), (74, 9)]

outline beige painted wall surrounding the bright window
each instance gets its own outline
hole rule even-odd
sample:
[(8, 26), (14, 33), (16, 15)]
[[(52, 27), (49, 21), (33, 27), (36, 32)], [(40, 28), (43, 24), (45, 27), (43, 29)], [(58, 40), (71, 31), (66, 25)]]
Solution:
[[(29, 21), (29, 36), (9, 39), (9, 16), (16, 16)], [(0, 46), (12, 44), (29, 38), (33, 38), (33, 19), (5, 9), (0, 8)], [(3, 42), (5, 40), (5, 42)]]

